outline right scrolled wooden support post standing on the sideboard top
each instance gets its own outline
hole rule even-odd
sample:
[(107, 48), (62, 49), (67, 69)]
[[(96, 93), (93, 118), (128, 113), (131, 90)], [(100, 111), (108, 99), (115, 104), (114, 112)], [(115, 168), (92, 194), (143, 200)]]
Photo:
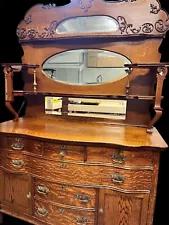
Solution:
[(162, 116), (163, 109), (161, 108), (161, 99), (162, 99), (161, 97), (162, 97), (163, 83), (167, 73), (168, 73), (167, 67), (157, 68), (157, 87), (156, 87), (156, 96), (155, 96), (155, 104), (154, 104), (155, 116), (152, 118), (152, 120), (147, 126), (148, 133), (152, 133), (153, 125)]

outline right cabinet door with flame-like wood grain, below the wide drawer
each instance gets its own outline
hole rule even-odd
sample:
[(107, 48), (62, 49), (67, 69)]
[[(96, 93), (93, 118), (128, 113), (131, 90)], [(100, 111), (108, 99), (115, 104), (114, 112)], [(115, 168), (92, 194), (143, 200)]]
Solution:
[(149, 194), (100, 189), (99, 225), (146, 225)]

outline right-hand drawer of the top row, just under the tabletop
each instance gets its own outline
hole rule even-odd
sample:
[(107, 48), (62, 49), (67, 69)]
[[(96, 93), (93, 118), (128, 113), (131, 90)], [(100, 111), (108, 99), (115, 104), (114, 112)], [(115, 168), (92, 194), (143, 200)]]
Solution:
[(88, 147), (87, 161), (91, 163), (109, 163), (121, 167), (151, 167), (153, 165), (153, 152)]

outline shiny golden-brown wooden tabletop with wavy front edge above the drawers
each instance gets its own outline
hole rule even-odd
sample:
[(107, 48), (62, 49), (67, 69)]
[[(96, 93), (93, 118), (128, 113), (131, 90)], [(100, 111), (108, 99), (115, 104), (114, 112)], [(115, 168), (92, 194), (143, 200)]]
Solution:
[(20, 118), (18, 122), (1, 123), (0, 133), (28, 135), (77, 144), (146, 147), (154, 150), (167, 148), (167, 144), (155, 128), (152, 134), (148, 134), (145, 128), (96, 123), (96, 120), (87, 118), (25, 117)]

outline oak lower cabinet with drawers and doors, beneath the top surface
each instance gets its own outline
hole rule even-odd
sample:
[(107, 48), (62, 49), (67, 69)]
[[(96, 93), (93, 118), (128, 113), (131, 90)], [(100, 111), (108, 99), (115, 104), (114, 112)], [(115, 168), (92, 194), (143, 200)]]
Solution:
[(120, 225), (126, 215), (128, 225), (152, 225), (158, 152), (21, 135), (0, 139), (4, 212), (35, 225)]

